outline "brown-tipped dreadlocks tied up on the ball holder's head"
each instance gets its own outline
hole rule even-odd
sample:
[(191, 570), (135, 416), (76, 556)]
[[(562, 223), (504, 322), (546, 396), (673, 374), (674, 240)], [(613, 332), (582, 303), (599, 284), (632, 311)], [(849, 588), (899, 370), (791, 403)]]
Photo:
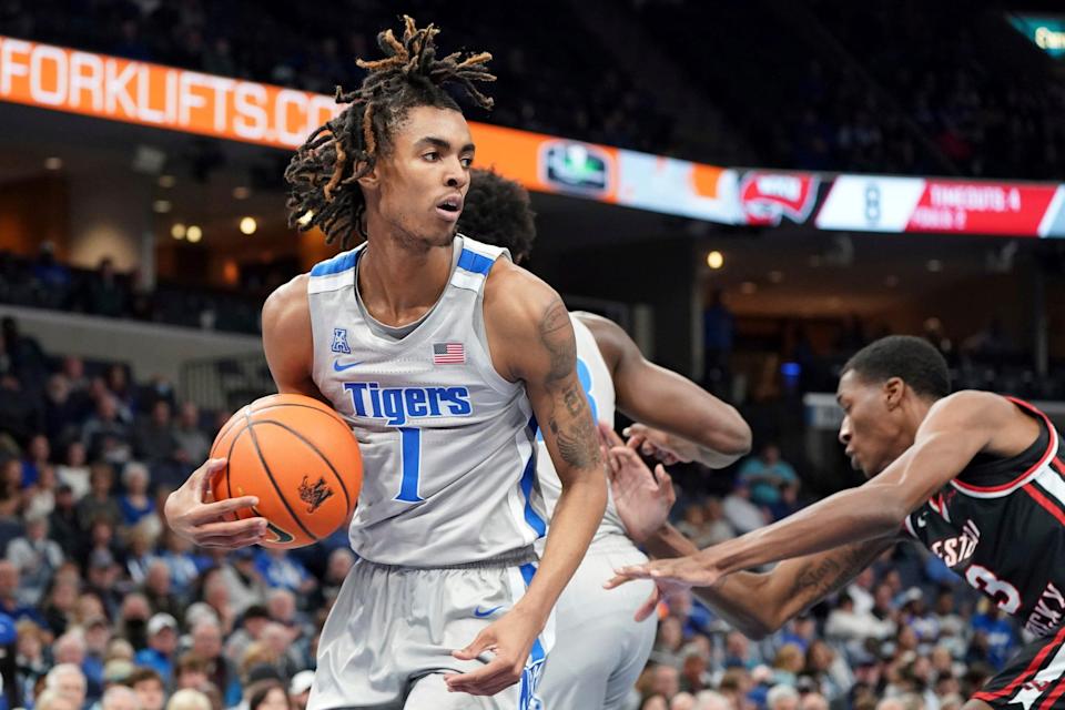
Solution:
[(460, 111), (445, 91), (456, 84), (477, 105), (491, 109), (493, 101), (474, 87), (475, 81), (495, 81), (488, 70), (488, 52), (454, 52), (438, 59), (433, 24), (418, 29), (403, 16), (403, 39), (392, 30), (377, 36), (384, 59), (357, 60), (367, 71), (362, 85), (345, 93), (336, 88), (336, 102), (351, 104), (339, 115), (314, 131), (296, 151), (285, 181), (288, 183), (288, 226), (301, 232), (312, 226), (326, 234), (326, 243), (341, 239), (341, 248), (356, 237), (366, 239), (363, 214), (366, 200), (356, 182), (369, 173), (377, 159), (392, 148), (392, 132), (415, 106)]

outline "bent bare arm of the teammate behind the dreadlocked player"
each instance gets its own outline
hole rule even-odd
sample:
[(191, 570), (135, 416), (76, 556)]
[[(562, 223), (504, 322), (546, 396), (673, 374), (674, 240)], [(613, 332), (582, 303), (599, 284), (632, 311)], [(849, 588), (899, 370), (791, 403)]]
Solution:
[[(751, 428), (734, 407), (697, 384), (648, 362), (632, 338), (607, 318), (577, 314), (602, 353), (618, 408), (626, 416), (663, 429), (665, 448), (679, 458), (723, 468), (751, 450)], [(640, 433), (638, 427), (635, 433)]]

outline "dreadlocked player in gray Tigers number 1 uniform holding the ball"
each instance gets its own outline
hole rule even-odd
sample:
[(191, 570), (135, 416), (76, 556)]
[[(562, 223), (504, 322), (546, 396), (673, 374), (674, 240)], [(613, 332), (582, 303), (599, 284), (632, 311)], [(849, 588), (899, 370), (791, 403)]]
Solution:
[[(339, 412), (366, 468), (312, 710), (535, 704), (551, 610), (606, 505), (562, 302), (505, 250), (456, 235), (475, 146), (445, 88), (490, 108), (474, 82), (494, 77), (487, 53), (438, 57), (437, 33), (410, 18), (402, 39), (382, 32), (385, 59), (361, 62), (347, 108), (285, 173), (292, 224), (363, 241), (263, 307), (280, 390)], [(562, 481), (538, 566), (537, 423)], [(175, 527), (223, 535), (195, 524), (196, 503), (168, 509)]]

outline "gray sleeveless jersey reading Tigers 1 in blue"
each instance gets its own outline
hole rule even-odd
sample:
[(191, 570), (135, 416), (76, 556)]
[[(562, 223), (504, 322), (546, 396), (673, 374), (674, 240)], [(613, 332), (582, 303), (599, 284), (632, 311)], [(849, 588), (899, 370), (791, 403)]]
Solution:
[(546, 529), (535, 419), (488, 354), (484, 287), (506, 250), (456, 236), (452, 275), (413, 331), (390, 337), (357, 301), (366, 245), (317, 264), (307, 296), (314, 383), (363, 454), (352, 549), (382, 565), (487, 560)]

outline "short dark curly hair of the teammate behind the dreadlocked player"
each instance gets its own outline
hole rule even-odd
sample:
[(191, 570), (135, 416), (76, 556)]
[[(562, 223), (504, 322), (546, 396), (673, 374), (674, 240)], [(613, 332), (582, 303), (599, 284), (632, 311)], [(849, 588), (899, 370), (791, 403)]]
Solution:
[(458, 219), (459, 232), (510, 250), (515, 263), (520, 264), (532, 251), (535, 216), (525, 187), (491, 170), (469, 171), (469, 192)]

